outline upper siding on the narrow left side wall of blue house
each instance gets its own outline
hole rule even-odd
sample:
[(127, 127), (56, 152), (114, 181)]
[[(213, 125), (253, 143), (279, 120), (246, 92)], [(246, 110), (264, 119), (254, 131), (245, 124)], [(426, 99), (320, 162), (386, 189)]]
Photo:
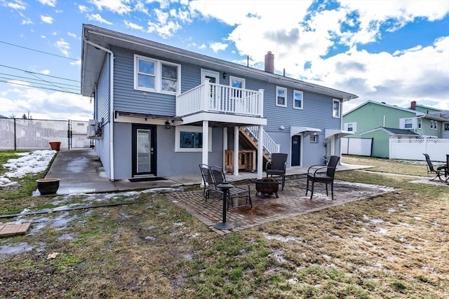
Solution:
[(100, 73), (100, 78), (98, 78), (98, 88), (96, 95), (96, 119), (102, 121), (103, 123), (109, 122), (109, 55), (106, 55), (105, 61), (103, 62), (102, 70)]

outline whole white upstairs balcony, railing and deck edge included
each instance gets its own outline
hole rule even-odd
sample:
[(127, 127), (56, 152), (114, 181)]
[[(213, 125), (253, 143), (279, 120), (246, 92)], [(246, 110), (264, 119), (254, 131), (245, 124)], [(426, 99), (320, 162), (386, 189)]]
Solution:
[[(176, 116), (184, 124), (200, 120), (266, 125), (263, 118), (264, 90), (246, 90), (210, 83), (208, 79), (176, 97)], [(239, 120), (239, 121), (237, 121)]]

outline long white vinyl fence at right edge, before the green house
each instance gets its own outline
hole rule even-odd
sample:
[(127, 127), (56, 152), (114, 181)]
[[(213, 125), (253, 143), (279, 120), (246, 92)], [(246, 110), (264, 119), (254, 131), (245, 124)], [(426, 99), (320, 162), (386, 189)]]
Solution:
[(449, 154), (449, 139), (390, 139), (389, 158), (424, 160), (428, 153), (432, 161), (445, 162)]

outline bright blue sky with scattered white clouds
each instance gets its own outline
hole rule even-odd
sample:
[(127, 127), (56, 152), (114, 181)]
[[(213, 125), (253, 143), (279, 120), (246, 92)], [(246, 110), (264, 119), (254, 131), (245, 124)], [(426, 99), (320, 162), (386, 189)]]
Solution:
[(91, 24), (404, 108), (449, 110), (449, 1), (0, 0), (0, 115), (88, 120)]

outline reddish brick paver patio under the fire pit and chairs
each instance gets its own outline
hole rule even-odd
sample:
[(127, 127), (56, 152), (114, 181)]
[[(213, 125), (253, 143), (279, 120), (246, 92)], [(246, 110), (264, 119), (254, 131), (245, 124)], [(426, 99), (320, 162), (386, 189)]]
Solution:
[(167, 193), (166, 196), (168, 200), (178, 207), (186, 209), (192, 216), (207, 225), (210, 230), (220, 235), (226, 235), (263, 223), (291, 218), (347, 202), (365, 200), (394, 190), (394, 188), (386, 186), (335, 181), (334, 200), (330, 200), (330, 197), (326, 196), (326, 188), (322, 184), (316, 185), (314, 197), (310, 200), (310, 193), (308, 196), (305, 195), (306, 179), (286, 181), (284, 190), (279, 190), (279, 198), (270, 195), (262, 199), (255, 196), (254, 184), (251, 184), (250, 189), (253, 208), (242, 207), (229, 209), (227, 212), (227, 223), (235, 225), (232, 230), (217, 230), (213, 227), (216, 223), (222, 222), (222, 197), (210, 197), (206, 202), (202, 189)]

